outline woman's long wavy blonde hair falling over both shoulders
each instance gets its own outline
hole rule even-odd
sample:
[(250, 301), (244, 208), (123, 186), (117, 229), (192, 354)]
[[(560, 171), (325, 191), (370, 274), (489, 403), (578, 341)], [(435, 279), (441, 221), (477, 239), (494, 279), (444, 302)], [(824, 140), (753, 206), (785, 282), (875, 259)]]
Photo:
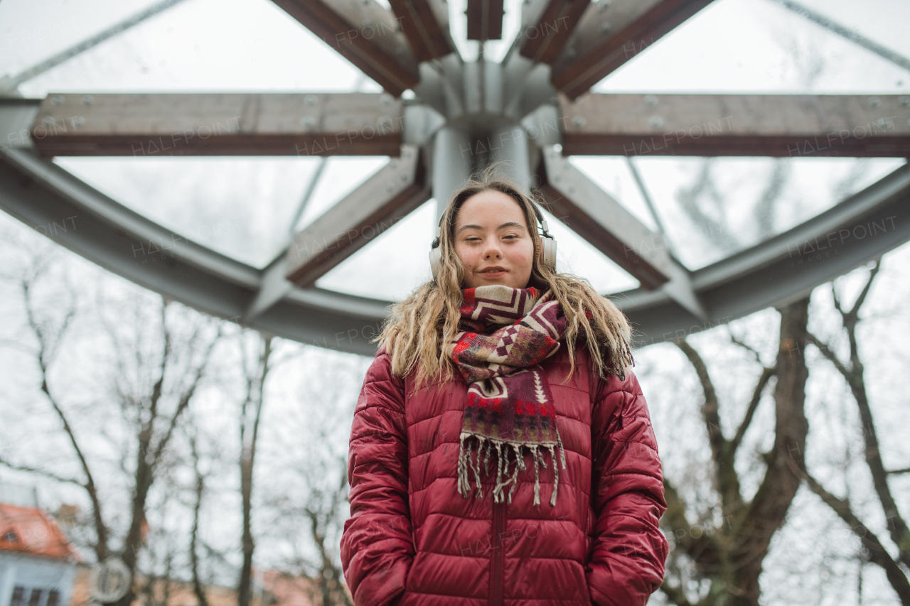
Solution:
[[(408, 298), (389, 306), (389, 315), (382, 329), (370, 342), (384, 345), (391, 358), (392, 374), (405, 377), (417, 369), (415, 390), (421, 383), (442, 378), (450, 380), (458, 373), (442, 343), (450, 343), (460, 332), (460, 307), (464, 303), (465, 269), (455, 254), (453, 230), (462, 204), (484, 191), (499, 191), (521, 207), (525, 225), (532, 234), (534, 258), (527, 287), (541, 292), (551, 289), (559, 300), (567, 320), (563, 344), (569, 348), (568, 381), (575, 371), (575, 343), (581, 338), (587, 345), (598, 374), (606, 379), (612, 373), (625, 379), (625, 370), (635, 365), (632, 359), (632, 329), (622, 311), (609, 298), (604, 298), (585, 279), (568, 273), (554, 273), (541, 262), (541, 235), (531, 199), (521, 193), (510, 177), (490, 165), (475, 173), (449, 198), (442, 212), (440, 229), (441, 263), (439, 274), (415, 288)], [(531, 198), (542, 207), (539, 190), (531, 190)], [(589, 319), (585, 314), (588, 310)], [(588, 338), (592, 336), (592, 338)]]

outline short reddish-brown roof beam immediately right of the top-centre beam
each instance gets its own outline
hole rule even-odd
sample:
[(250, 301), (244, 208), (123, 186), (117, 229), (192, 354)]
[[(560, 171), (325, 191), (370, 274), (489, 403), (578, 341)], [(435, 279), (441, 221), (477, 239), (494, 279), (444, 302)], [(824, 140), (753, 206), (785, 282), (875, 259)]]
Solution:
[(529, 0), (521, 11), (522, 56), (551, 64), (581, 20), (591, 0)]

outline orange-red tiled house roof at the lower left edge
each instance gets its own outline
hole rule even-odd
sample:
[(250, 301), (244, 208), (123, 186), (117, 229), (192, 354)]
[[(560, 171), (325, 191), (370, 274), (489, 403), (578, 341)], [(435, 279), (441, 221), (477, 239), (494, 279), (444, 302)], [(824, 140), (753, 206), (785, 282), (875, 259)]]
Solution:
[(34, 507), (0, 503), (0, 550), (82, 561), (56, 521)]

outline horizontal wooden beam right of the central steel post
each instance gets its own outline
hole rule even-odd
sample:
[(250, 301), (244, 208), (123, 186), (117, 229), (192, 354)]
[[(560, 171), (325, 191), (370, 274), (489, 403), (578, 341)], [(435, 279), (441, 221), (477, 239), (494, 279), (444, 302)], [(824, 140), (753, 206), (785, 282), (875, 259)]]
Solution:
[(907, 95), (560, 98), (562, 154), (910, 156)]

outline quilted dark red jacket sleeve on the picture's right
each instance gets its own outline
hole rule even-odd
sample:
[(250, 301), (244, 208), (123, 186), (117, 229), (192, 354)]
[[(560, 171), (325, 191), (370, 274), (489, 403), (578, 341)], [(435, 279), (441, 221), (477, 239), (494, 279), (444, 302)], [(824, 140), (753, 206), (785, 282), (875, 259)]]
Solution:
[(591, 554), (585, 570), (591, 601), (643, 606), (663, 581), (669, 550), (658, 522), (667, 510), (661, 460), (642, 388), (600, 379), (591, 411)]

